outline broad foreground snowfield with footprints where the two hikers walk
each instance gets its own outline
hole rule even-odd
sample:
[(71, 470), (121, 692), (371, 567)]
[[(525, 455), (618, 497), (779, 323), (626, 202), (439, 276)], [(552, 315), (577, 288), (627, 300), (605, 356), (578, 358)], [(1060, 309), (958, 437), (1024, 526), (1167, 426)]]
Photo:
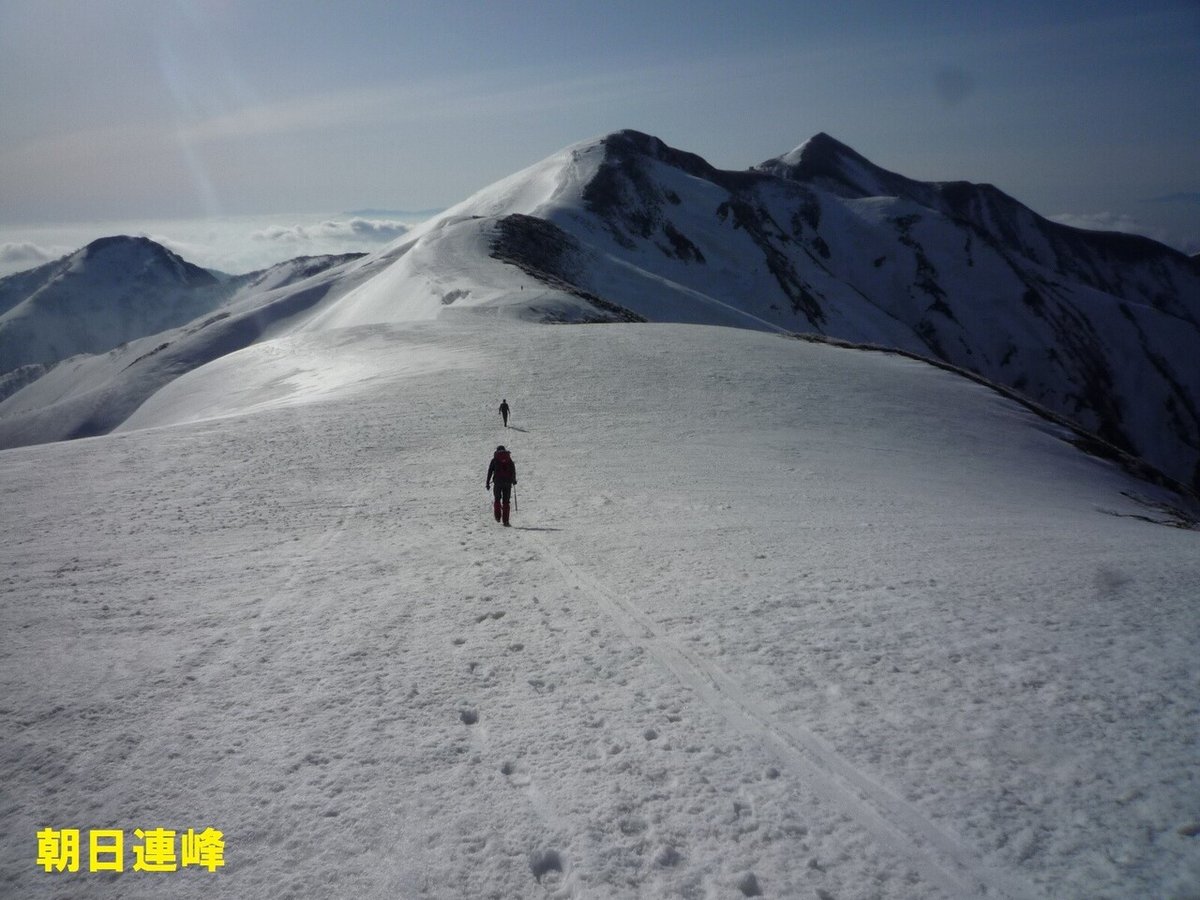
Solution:
[[(0, 452), (0, 498), (4, 896), (1200, 884), (1200, 535), (916, 361), (299, 332)], [(227, 864), (47, 874), (47, 826), (212, 827)]]

